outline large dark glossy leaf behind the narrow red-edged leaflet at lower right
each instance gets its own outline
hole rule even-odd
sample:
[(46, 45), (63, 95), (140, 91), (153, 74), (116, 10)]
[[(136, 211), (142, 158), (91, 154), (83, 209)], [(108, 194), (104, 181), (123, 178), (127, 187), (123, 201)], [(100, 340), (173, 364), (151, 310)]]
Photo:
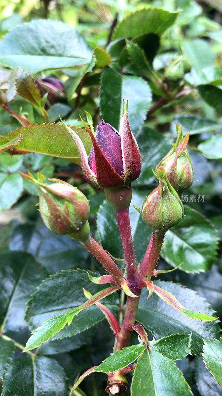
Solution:
[[(156, 281), (155, 285), (174, 294), (189, 309), (203, 311), (210, 316), (215, 313), (208, 302), (198, 296), (193, 290), (171, 282)], [(155, 294), (152, 294), (148, 299), (147, 297), (148, 292), (143, 290), (137, 312), (137, 320), (154, 335), (155, 339), (177, 333), (192, 333), (191, 350), (194, 354), (200, 354), (203, 338), (218, 338), (220, 330), (217, 321), (201, 322), (199, 320), (189, 319), (166, 304)]]

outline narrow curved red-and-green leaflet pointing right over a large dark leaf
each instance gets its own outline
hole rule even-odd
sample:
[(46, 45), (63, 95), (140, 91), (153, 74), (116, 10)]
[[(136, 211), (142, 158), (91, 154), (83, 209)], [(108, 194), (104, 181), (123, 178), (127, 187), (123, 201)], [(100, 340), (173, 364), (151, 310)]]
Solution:
[(205, 315), (204, 313), (191, 311), (190, 309), (186, 309), (175, 296), (173, 296), (170, 292), (159, 288), (156, 285), (153, 285), (153, 292), (157, 294), (160, 298), (170, 304), (173, 308), (177, 309), (180, 313), (185, 316), (188, 316), (190, 319), (198, 319), (204, 321), (216, 320), (213, 316)]

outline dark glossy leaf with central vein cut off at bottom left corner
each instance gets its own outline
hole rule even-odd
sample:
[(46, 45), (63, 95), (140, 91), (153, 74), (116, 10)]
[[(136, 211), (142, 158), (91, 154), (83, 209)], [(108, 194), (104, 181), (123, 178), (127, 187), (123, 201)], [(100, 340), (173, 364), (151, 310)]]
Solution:
[(67, 396), (68, 381), (59, 363), (46, 356), (24, 356), (10, 364), (2, 396)]

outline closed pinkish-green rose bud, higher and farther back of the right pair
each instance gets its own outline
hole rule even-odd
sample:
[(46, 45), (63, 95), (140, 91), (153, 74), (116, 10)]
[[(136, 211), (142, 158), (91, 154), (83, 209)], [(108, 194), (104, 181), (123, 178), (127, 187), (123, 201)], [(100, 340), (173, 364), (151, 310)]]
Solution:
[(193, 167), (186, 149), (189, 134), (183, 137), (182, 125), (176, 126), (178, 133), (176, 144), (173, 144), (173, 148), (157, 167), (161, 166), (165, 170), (170, 184), (180, 194), (183, 190), (188, 189), (193, 182)]

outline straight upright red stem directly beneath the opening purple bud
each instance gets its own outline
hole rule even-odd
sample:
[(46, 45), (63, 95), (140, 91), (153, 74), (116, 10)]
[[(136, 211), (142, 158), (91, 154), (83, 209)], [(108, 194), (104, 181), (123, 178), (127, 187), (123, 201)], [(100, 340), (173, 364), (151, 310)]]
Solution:
[[(122, 247), (126, 260), (127, 279), (134, 289), (137, 289), (138, 271), (135, 260), (133, 239), (131, 234), (129, 209), (123, 208), (115, 211)], [(133, 291), (133, 290), (132, 290)]]

